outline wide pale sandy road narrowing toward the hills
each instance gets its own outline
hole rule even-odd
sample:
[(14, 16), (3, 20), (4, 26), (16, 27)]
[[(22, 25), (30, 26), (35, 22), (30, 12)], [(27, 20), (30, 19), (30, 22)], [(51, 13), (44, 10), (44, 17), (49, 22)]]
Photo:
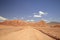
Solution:
[(1, 36), (0, 40), (55, 40), (46, 34), (32, 28), (27, 27), (23, 30), (9, 33), (5, 36)]

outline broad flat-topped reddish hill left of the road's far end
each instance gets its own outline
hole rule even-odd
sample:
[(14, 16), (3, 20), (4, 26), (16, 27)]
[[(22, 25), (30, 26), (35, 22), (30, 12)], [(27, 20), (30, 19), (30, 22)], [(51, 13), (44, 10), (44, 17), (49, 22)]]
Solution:
[(7, 20), (7, 21), (4, 21), (4, 22), (0, 22), (0, 24), (2, 25), (12, 25), (12, 26), (25, 26), (27, 23), (23, 20)]

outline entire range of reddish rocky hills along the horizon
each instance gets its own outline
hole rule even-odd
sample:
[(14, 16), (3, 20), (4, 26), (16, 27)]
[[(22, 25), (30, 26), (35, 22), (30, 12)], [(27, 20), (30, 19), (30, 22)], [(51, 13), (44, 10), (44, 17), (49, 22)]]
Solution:
[(48, 24), (41, 20), (39, 22), (26, 22), (23, 20), (7, 20), (4, 22), (0, 22), (0, 25), (9, 25), (9, 26), (37, 26), (37, 27), (46, 27)]

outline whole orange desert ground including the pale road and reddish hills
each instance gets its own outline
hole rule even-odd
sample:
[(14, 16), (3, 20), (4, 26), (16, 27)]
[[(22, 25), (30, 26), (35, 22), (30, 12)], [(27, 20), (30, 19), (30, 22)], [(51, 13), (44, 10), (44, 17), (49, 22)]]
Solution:
[(0, 22), (0, 40), (60, 40), (60, 25), (52, 26), (41, 20)]

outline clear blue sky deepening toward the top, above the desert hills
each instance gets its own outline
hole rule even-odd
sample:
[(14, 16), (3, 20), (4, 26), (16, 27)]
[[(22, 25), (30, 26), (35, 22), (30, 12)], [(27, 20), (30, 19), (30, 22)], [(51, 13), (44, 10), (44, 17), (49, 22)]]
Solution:
[[(39, 11), (47, 13), (42, 17)], [(0, 16), (7, 19), (41, 19), (60, 22), (60, 0), (0, 0)]]

